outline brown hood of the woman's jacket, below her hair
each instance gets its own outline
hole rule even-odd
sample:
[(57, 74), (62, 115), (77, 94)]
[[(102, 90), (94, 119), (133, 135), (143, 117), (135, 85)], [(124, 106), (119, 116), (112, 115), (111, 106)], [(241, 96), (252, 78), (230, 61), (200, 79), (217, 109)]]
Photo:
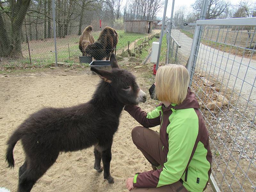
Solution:
[(173, 109), (187, 109), (187, 108), (195, 108), (199, 109), (199, 103), (196, 100), (195, 94), (190, 91), (190, 88), (188, 88), (188, 93), (186, 96), (186, 99), (180, 104), (176, 106), (169, 105), (168, 107), (165, 107), (163, 103), (161, 103), (162, 109), (170, 110)]

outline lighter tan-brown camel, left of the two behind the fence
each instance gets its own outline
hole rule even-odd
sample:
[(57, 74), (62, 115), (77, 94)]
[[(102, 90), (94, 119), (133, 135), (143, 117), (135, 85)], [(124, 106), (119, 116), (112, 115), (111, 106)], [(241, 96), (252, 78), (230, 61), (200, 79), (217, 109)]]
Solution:
[(83, 56), (87, 56), (85, 54), (85, 49), (88, 45), (94, 43), (94, 37), (92, 35), (92, 26), (88, 26), (84, 29), (83, 34), (80, 36), (79, 40), (79, 49), (83, 53)]

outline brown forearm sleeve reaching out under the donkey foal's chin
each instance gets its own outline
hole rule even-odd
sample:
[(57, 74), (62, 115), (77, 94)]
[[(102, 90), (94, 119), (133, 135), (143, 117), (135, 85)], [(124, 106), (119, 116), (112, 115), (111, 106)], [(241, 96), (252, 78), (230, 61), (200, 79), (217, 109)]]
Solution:
[(156, 118), (148, 119), (148, 113), (141, 110), (137, 105), (126, 105), (124, 110), (127, 111), (143, 127), (149, 128), (160, 125), (160, 115)]

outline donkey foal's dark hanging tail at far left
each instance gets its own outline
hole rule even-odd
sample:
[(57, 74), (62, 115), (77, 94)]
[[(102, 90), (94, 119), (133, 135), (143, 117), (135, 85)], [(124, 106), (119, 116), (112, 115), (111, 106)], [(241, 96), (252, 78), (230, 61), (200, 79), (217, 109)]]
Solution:
[(23, 134), (20, 133), (20, 130), (17, 129), (13, 132), (12, 136), (7, 141), (8, 147), (6, 149), (5, 161), (7, 161), (8, 167), (11, 167), (11, 168), (14, 167), (13, 148), (16, 145), (16, 143), (18, 142), (18, 140), (20, 140), (22, 135)]

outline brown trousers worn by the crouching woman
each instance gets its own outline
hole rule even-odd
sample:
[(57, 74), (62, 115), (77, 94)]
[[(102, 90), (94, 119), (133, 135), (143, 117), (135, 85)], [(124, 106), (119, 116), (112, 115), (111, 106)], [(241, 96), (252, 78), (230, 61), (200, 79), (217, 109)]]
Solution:
[[(159, 133), (151, 129), (137, 126), (132, 129), (132, 141), (153, 166), (164, 166), (166, 156)], [(188, 192), (180, 181), (158, 188), (133, 188), (131, 192)]]

